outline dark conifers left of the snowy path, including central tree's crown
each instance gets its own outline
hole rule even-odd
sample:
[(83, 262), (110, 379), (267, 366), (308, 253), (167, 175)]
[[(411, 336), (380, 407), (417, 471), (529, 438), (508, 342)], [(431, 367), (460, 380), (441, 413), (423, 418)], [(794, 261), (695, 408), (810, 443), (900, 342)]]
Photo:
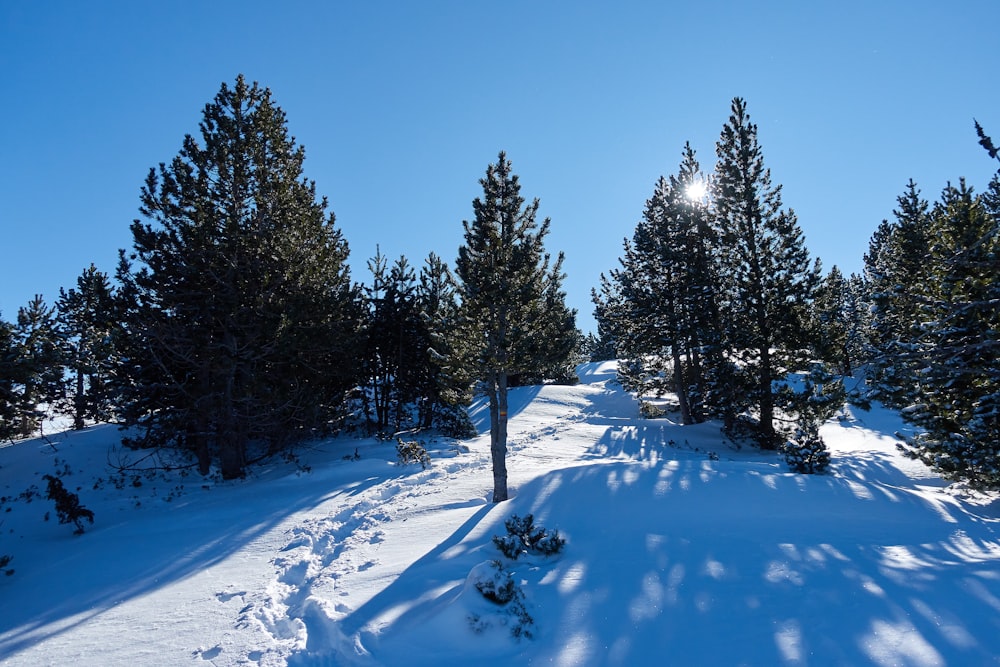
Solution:
[[(304, 157), (268, 89), (223, 84), (199, 135), (149, 171), (113, 278), (91, 266), (54, 306), (39, 296), (0, 320), (0, 438), (36, 434), (52, 414), (114, 421), (131, 447), (180, 449), (202, 474), (234, 478), (350, 426), (470, 435), (477, 382), (489, 391), (502, 371), (505, 392), (572, 376), (582, 337), (537, 201), (511, 213), (477, 199), (457, 276), (433, 253), (417, 269), (377, 252), (356, 283)], [(502, 153), (498, 165), (485, 201), (499, 187), (520, 208)]]

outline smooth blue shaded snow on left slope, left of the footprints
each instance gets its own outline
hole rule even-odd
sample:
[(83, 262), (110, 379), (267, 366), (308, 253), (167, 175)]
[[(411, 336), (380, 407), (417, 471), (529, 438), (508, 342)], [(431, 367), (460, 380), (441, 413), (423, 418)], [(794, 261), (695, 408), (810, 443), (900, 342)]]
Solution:
[[(78, 440), (75, 446), (101, 448), (100, 458), (104, 458), (108, 445), (106, 433), (95, 436), (92, 429), (89, 433), (69, 434), (62, 439), (61, 446), (74, 444), (74, 438)], [(349, 444), (353, 447), (353, 443)], [(31, 446), (31, 443), (17, 446)], [(293, 471), (294, 467), (289, 465), (289, 473)], [(40, 542), (33, 548), (61, 551), (60, 557), (46, 555), (38, 564), (29, 564), (30, 556), (24, 554), (24, 547), (19, 550), (16, 542), (8, 543), (17, 567), (15, 576), (2, 582), (0, 656), (13, 656), (123, 602), (196, 575), (226, 560), (287, 517), (336, 496), (361, 494), (393, 475), (364, 475), (362, 479), (347, 482), (343, 476), (336, 476), (333, 483), (330, 479), (324, 481), (324, 477), (289, 474), (267, 482), (266, 493), (261, 493), (263, 482), (254, 480), (201, 486), (200, 477), (189, 477), (183, 482), (190, 488), (170, 504), (164, 504), (162, 498), (150, 497), (149, 482), (142, 491), (121, 491), (117, 505), (107, 499), (93, 505), (88, 498), (95, 493), (81, 490), (84, 505), (96, 510), (94, 526), (88, 526), (83, 535), (71, 535), (69, 528), (54, 520), (42, 523), (39, 518), (38, 522), (27, 524), (35, 533), (33, 541)], [(177, 481), (164, 484), (169, 486)], [(136, 507), (136, 500), (131, 498), (134, 495), (146, 506)], [(36, 506), (39, 517), (51, 509), (44, 499), (27, 507)], [(133, 512), (135, 520), (130, 520)], [(163, 515), (158, 533), (155, 528), (150, 529), (151, 524), (156, 525), (157, 513)]]

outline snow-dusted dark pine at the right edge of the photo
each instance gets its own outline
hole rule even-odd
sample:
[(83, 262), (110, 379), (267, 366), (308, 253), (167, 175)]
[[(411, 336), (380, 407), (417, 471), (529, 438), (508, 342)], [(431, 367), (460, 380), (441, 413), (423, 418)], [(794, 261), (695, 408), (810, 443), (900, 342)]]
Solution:
[(907, 352), (921, 428), (904, 447), (945, 477), (1000, 488), (1000, 179), (985, 196), (962, 180), (931, 212), (931, 273)]

